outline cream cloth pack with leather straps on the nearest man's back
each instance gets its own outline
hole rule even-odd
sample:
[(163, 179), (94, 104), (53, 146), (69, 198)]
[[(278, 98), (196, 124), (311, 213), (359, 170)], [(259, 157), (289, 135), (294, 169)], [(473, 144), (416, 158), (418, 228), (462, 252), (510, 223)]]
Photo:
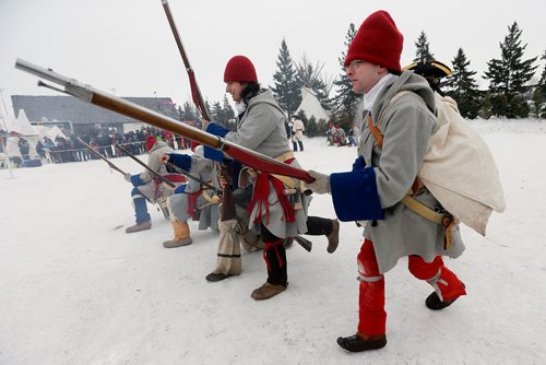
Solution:
[[(406, 93), (411, 91), (399, 92), (389, 105)], [(419, 215), (442, 224), (447, 232), (453, 222), (460, 221), (485, 236), (491, 212), (501, 213), (506, 209), (497, 165), (485, 141), (459, 113), (455, 101), (437, 93), (435, 96), (437, 131), (428, 141), (413, 191), (408, 191), (402, 202)], [(369, 117), (368, 125), (376, 144), (382, 144), (383, 134)], [(424, 185), (450, 214), (439, 214), (413, 198), (419, 185)]]

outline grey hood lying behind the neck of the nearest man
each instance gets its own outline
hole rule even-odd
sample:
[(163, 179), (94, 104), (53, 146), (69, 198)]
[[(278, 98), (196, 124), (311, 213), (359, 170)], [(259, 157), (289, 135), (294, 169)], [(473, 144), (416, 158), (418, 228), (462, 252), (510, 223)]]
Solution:
[(428, 109), (436, 114), (435, 92), (430, 89), (427, 80), (413, 71), (403, 71), (400, 76), (389, 80), (385, 87), (380, 92), (371, 110), (372, 116), (378, 116), (389, 105), (394, 95), (401, 91), (414, 92), (423, 98)]

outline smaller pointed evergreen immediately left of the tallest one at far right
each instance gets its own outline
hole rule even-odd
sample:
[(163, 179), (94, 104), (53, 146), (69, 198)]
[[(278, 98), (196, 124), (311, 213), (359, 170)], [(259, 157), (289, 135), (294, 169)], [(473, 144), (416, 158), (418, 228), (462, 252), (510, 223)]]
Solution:
[(476, 71), (468, 70), (471, 61), (466, 60), (462, 48), (459, 48), (452, 63), (453, 72), (444, 82), (449, 90), (447, 95), (455, 99), (464, 118), (474, 119), (479, 111), (479, 91), (474, 79)]

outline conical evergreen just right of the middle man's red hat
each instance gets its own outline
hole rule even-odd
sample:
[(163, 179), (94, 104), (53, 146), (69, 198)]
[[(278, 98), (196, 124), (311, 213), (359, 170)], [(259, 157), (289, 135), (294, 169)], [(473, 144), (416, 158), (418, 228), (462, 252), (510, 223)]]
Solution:
[(270, 89), (273, 91), (281, 108), (288, 114), (289, 119), (301, 103), (301, 83), (297, 79), (297, 72), (284, 38), (278, 50), (276, 66), (278, 69), (273, 74), (275, 86), (270, 86)]

